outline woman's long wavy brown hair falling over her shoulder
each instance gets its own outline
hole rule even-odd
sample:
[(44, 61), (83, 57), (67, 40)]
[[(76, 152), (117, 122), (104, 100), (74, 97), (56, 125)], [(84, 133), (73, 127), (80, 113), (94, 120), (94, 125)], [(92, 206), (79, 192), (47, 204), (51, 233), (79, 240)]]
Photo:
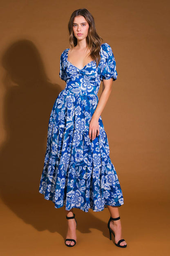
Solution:
[(73, 21), (74, 17), (79, 15), (83, 16), (89, 24), (89, 30), (86, 37), (87, 48), (90, 49), (89, 56), (91, 57), (91, 59), (96, 61), (96, 64), (98, 66), (100, 62), (100, 46), (103, 42), (103, 39), (96, 32), (96, 27), (94, 24), (94, 18), (92, 14), (85, 8), (74, 11), (70, 17), (68, 24), (69, 44), (71, 46), (71, 49), (77, 45), (77, 39), (73, 34)]

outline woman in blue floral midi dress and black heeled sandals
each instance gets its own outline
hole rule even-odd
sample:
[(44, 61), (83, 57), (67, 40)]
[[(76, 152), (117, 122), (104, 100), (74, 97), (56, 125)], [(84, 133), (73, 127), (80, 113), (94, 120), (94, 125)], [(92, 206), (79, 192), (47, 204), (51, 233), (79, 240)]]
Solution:
[[(124, 203), (123, 194), (101, 119), (117, 78), (116, 62), (110, 45), (101, 44), (87, 9), (74, 11), (68, 27), (71, 48), (60, 56), (59, 73), (66, 86), (51, 111), (39, 192), (53, 201), (55, 208), (65, 206), (67, 246), (76, 245), (73, 208), (98, 212), (107, 207), (110, 240), (113, 233), (115, 244), (126, 247), (118, 210)], [(101, 81), (103, 92), (98, 100)]]

